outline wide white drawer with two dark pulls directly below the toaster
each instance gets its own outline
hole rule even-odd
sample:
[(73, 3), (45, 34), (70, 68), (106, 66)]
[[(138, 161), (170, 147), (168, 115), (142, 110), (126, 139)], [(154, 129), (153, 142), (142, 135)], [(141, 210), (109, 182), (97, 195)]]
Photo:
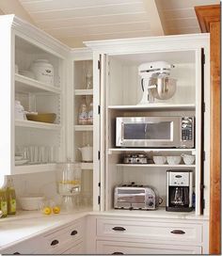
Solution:
[(151, 241), (202, 242), (202, 225), (161, 221), (97, 219), (97, 235), (114, 238), (149, 239)]

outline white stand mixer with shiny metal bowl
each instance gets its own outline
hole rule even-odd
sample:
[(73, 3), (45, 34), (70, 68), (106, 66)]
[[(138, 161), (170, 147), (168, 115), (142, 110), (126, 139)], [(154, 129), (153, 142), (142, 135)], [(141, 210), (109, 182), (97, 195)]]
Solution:
[(169, 78), (173, 65), (166, 61), (143, 63), (138, 67), (143, 96), (139, 104), (154, 103), (154, 99), (168, 100), (176, 92), (176, 79)]

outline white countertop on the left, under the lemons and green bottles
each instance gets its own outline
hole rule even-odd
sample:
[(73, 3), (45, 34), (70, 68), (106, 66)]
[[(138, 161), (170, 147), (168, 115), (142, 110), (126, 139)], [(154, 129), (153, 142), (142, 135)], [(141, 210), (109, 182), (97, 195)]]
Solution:
[(16, 216), (0, 218), (0, 250), (87, 216), (88, 212), (61, 212), (46, 216), (40, 211), (21, 211)]

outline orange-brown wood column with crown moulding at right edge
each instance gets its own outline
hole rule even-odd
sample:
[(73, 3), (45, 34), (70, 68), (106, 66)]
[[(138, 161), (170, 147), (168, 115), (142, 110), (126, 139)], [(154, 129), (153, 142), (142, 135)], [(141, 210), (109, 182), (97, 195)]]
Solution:
[(195, 8), (202, 32), (211, 34), (211, 138), (210, 138), (210, 230), (209, 253), (221, 253), (221, 87), (220, 87), (220, 6)]

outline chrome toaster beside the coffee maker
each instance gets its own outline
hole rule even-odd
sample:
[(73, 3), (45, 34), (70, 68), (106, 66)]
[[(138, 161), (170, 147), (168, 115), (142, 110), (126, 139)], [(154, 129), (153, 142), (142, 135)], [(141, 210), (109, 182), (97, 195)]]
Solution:
[(162, 201), (151, 185), (121, 184), (114, 189), (115, 209), (156, 210)]

